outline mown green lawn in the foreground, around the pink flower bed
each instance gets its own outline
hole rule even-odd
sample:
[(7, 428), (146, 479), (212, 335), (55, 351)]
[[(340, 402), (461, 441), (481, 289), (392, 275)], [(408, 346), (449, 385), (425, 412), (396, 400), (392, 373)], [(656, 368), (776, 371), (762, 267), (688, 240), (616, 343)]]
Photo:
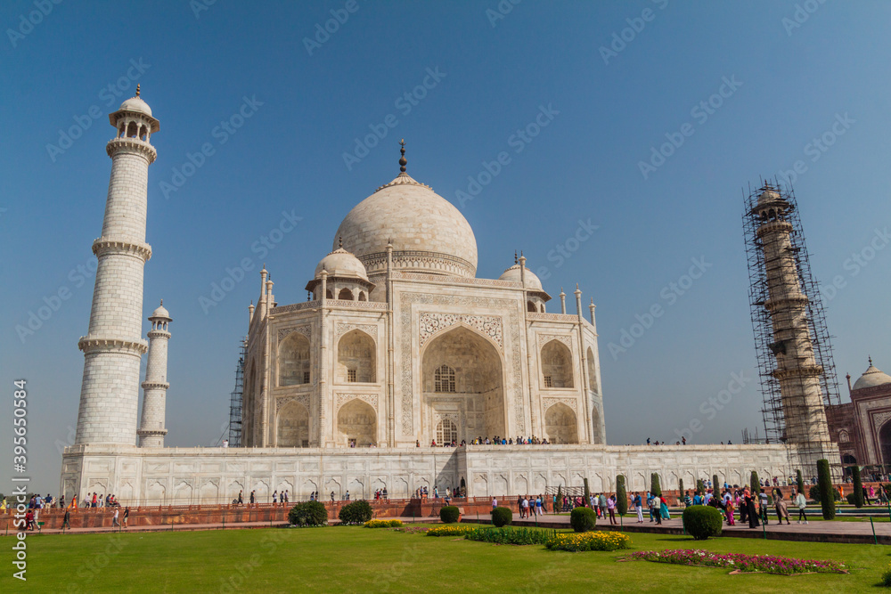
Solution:
[[(835, 559), (851, 574), (729, 575), (722, 569), (619, 562), (628, 551), (565, 553), (386, 529), (329, 527), (193, 533), (29, 535), (28, 582), (4, 562), (0, 591), (875, 591), (891, 557), (875, 545), (631, 534), (632, 550), (706, 548)], [(0, 545), (7, 552), (13, 540)], [(8, 545), (8, 546), (7, 546)], [(237, 588), (233, 588), (234, 582)], [(707, 589), (707, 590), (705, 590)]]

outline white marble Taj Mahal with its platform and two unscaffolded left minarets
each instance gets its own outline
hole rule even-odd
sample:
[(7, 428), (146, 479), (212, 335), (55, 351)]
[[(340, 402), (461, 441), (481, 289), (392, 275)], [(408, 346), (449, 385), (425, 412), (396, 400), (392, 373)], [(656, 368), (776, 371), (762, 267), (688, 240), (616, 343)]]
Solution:
[[(336, 231), (331, 220), (330, 251), (318, 250), (315, 271), (304, 263), (307, 296), (280, 303), (270, 271), (260, 272), (248, 306), (241, 447), (165, 447), (168, 346), (184, 355), (163, 304), (142, 335), (159, 120), (137, 90), (110, 124), (94, 299), (78, 343), (77, 435), (62, 455), (69, 500), (113, 492), (124, 502), (199, 504), (254, 491), (265, 501), (285, 490), (292, 500), (346, 491), (360, 499), (384, 488), (398, 498), (424, 486), (500, 497), (584, 479), (609, 491), (618, 474), (638, 491), (651, 473), (666, 488), (715, 474), (744, 484), (752, 470), (788, 476), (797, 448), (838, 458), (825, 420), (814, 425), (821, 435), (800, 444), (608, 445), (593, 299), (585, 304), (576, 285), (569, 304), (562, 289), (555, 302), (523, 256), (497, 279), (478, 278), (470, 224), (408, 174), (405, 145), (398, 175)], [(515, 443), (532, 436), (535, 444)]]

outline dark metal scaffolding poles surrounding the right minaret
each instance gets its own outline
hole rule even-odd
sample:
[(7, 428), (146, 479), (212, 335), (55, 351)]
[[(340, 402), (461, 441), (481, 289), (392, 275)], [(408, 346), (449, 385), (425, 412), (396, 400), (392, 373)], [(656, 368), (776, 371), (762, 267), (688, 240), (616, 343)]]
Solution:
[[(774, 312), (772, 316), (764, 306), (769, 299), (777, 301), (786, 297), (796, 297), (792, 293), (796, 293), (797, 297), (803, 293), (807, 297), (805, 310), (807, 327), (813, 346), (814, 361), (822, 368), (820, 385), (823, 403), (826, 405), (840, 402), (838, 377), (835, 363), (832, 360), (832, 342), (826, 325), (819, 285), (813, 280), (811, 273), (811, 264), (805, 246), (801, 219), (798, 216), (795, 192), (791, 187), (784, 187), (776, 180), (773, 183), (762, 183), (761, 187), (754, 191), (749, 186), (748, 190), (748, 196), (745, 197), (746, 210), (742, 221), (748, 260), (748, 297), (752, 328), (755, 332), (758, 374), (764, 397), (764, 407), (761, 410), (764, 420), (764, 442), (789, 444), (789, 435), (801, 435), (800, 430), (806, 427), (806, 419), (798, 414), (798, 411), (803, 410), (804, 402), (795, 402), (789, 398), (784, 401), (781, 397), (780, 381), (775, 377), (774, 372), (777, 370), (776, 355), (780, 352), (785, 353), (787, 340), (793, 338), (795, 325), (781, 311)], [(781, 214), (778, 214), (777, 220), (792, 225), (792, 232), (789, 234), (789, 247), (779, 249), (778, 245), (767, 246), (767, 252), (780, 252), (780, 255), (771, 262), (765, 260), (764, 240), (758, 237), (757, 233), (758, 228), (765, 223), (759, 216), (756, 207), (758, 198), (768, 190), (776, 191), (780, 195), (780, 199), (787, 205)], [(795, 270), (784, 268), (788, 263), (791, 263)], [(774, 278), (772, 286), (774, 294), (771, 295), (768, 287), (769, 269), (774, 275), (783, 276), (786, 279), (792, 278), (793, 274), (797, 275), (799, 286), (797, 288), (789, 287), (783, 282), (777, 282)], [(777, 294), (778, 291), (779, 294)], [(798, 378), (798, 381), (801, 382), (804, 379)], [(747, 436), (751, 439), (750, 435)], [(760, 440), (756, 438), (756, 441)], [(793, 466), (791, 453), (789, 450), (790, 468)], [(816, 460), (799, 461), (805, 467), (811, 467), (816, 462)]]

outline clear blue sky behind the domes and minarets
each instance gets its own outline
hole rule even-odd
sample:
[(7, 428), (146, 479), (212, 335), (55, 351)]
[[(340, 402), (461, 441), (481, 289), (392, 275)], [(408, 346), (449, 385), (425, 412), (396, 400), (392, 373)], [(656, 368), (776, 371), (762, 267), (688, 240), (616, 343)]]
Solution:
[[(473, 226), (479, 277), (522, 249), (550, 311), (560, 287), (593, 297), (609, 443), (760, 426), (740, 219), (748, 184), (783, 170), (815, 276), (842, 285), (826, 295), (839, 378), (868, 354), (891, 370), (887, 3), (45, 4), (0, 7), (0, 452), (26, 378), (41, 492), (77, 424), (107, 114), (137, 82), (160, 120), (143, 310), (163, 298), (174, 318), (168, 445), (217, 441), (259, 265), (280, 304), (305, 300), (342, 217), (398, 173), (400, 138), (409, 173)], [(298, 224), (271, 235), (283, 213)], [(634, 344), (610, 348), (623, 330)], [(734, 374), (742, 391), (712, 411)]]

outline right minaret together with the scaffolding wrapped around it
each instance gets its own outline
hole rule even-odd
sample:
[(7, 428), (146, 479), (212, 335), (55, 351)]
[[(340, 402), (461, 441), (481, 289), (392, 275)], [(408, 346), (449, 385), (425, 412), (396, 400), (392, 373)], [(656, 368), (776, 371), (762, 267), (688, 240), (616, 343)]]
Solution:
[(789, 446), (791, 467), (813, 476), (817, 460), (841, 462), (825, 410), (838, 385), (794, 195), (765, 183), (748, 196), (744, 222), (764, 428)]

